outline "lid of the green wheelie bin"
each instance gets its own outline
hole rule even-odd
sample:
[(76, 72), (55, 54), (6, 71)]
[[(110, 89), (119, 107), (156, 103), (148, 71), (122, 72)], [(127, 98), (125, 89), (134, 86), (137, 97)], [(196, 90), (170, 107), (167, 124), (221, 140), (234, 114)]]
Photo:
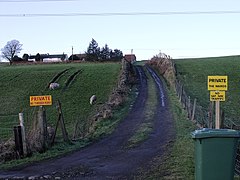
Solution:
[(193, 139), (213, 138), (213, 137), (240, 137), (240, 131), (233, 129), (208, 129), (203, 128), (191, 133)]

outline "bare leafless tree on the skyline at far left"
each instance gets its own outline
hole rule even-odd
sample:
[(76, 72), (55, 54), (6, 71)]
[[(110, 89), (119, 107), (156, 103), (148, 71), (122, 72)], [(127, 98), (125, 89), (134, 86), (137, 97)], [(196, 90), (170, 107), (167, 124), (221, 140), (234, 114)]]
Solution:
[(1, 49), (2, 57), (7, 59), (10, 64), (13, 62), (14, 56), (16, 56), (22, 50), (22, 44), (18, 40), (8, 41), (4, 48)]

